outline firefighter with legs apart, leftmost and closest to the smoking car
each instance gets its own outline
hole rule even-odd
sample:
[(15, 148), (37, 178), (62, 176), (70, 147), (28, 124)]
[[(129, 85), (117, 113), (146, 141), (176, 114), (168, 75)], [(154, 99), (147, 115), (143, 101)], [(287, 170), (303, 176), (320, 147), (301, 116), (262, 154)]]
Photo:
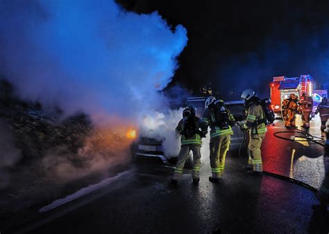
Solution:
[(189, 105), (183, 110), (183, 119), (181, 119), (176, 127), (176, 132), (180, 134), (180, 152), (178, 154), (178, 161), (174, 176), (171, 179), (171, 183), (177, 184), (178, 180), (183, 174), (183, 168), (185, 161), (189, 156), (189, 152), (193, 152), (193, 169), (192, 179), (194, 184), (198, 184), (200, 181), (199, 171), (201, 165), (201, 137), (204, 137), (207, 131), (201, 132), (200, 119), (196, 116), (196, 107)]

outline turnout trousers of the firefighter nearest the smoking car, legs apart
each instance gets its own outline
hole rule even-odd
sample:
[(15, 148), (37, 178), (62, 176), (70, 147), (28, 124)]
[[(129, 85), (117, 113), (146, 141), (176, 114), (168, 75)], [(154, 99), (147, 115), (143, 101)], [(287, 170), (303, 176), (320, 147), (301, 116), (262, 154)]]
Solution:
[(200, 145), (182, 145), (180, 147), (180, 152), (178, 154), (178, 160), (176, 163), (176, 168), (174, 172), (173, 179), (178, 180), (182, 177), (183, 168), (186, 160), (189, 157), (189, 152), (193, 152), (193, 169), (192, 169), (192, 178), (198, 179), (200, 174), (200, 165), (201, 165), (201, 153)]

